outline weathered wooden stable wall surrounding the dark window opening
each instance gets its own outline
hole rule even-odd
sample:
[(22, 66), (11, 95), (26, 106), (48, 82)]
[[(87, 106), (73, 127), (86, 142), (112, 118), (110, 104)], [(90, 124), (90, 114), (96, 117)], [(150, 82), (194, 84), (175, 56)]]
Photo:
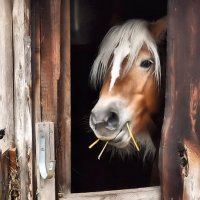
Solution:
[[(163, 199), (200, 198), (199, 10), (198, 1), (169, 1)], [(158, 187), (70, 194), (69, 13), (69, 0), (0, 0), (0, 199), (159, 199)], [(42, 121), (55, 124), (57, 161), (56, 177), (45, 181), (35, 149), (35, 123)]]

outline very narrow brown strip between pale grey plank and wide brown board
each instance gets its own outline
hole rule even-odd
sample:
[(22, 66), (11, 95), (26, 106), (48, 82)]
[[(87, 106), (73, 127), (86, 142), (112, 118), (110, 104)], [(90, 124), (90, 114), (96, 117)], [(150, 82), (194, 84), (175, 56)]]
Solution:
[[(41, 122), (41, 101), (40, 101), (40, 9), (39, 1), (32, 1), (32, 80), (33, 80), (33, 124)], [(33, 125), (33, 198), (39, 200), (40, 192), (40, 172), (38, 167), (38, 151), (37, 151), (38, 135)]]

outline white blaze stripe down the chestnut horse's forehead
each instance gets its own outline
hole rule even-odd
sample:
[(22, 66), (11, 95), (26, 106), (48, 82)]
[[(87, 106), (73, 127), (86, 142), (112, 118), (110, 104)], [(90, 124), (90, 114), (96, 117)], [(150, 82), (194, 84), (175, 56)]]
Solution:
[(110, 87), (109, 92), (112, 90), (112, 87), (114, 86), (117, 78), (120, 75), (120, 67), (124, 60), (124, 58), (130, 53), (130, 45), (129, 42), (126, 43), (126, 45), (118, 46), (114, 51), (114, 57), (113, 57), (113, 66), (111, 70), (111, 81), (110, 81)]

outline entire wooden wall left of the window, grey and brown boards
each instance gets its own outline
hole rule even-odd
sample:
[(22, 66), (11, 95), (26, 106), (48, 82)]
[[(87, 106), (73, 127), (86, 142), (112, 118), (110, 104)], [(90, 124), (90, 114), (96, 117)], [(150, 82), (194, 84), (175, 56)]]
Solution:
[[(69, 0), (0, 0), (0, 199), (55, 199), (56, 185), (70, 191), (69, 9)], [(57, 184), (38, 171), (42, 121), (55, 125)], [(14, 181), (16, 191), (4, 187)]]

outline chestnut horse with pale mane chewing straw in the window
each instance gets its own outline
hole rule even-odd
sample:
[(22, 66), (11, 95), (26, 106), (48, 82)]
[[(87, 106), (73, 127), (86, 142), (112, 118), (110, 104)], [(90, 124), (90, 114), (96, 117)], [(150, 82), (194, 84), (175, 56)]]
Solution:
[(158, 46), (166, 24), (164, 17), (155, 22), (134, 19), (112, 27), (93, 63), (90, 82), (101, 89), (89, 125), (99, 140), (120, 155), (137, 152), (128, 124), (143, 160), (155, 158), (156, 121), (164, 96)]

